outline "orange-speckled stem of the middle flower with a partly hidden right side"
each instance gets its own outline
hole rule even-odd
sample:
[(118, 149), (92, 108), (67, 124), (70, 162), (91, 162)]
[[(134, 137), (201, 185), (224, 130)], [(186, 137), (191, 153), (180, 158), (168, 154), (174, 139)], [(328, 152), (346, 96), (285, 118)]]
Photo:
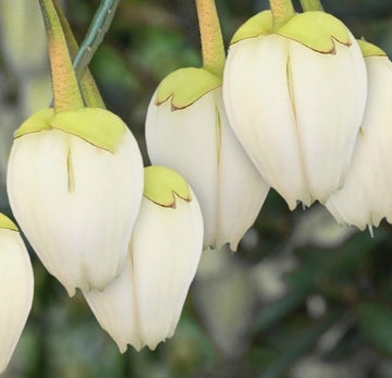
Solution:
[(215, 0), (196, 0), (201, 37), (203, 66), (223, 77), (225, 51)]

